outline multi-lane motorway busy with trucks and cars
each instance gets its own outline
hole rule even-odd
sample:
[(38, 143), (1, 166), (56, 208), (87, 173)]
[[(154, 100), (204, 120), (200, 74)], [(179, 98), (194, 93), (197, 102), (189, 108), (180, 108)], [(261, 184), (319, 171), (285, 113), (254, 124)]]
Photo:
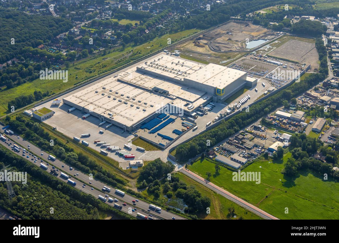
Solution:
[[(185, 219), (183, 217), (180, 217), (176, 214), (173, 214), (171, 212), (167, 212), (165, 211), (164, 209), (161, 210), (161, 213), (156, 213), (154, 212), (153, 209), (151, 209), (151, 212), (148, 212), (147, 209), (149, 208), (149, 203), (147, 202), (144, 202), (142, 200), (139, 200), (139, 202), (136, 202), (136, 205), (133, 205), (133, 202), (132, 200), (135, 200), (137, 199), (136, 197), (134, 196), (131, 196), (131, 195), (128, 195), (128, 194), (125, 194), (124, 196), (122, 196), (121, 194), (116, 194), (115, 193), (115, 189), (111, 187), (111, 193), (107, 193), (107, 192), (103, 192), (103, 191), (99, 191), (100, 189), (103, 188), (103, 186), (105, 186), (106, 184), (105, 183), (102, 183), (101, 181), (99, 180), (96, 180), (96, 179), (92, 179), (90, 180), (90, 176), (89, 175), (86, 175), (85, 173), (77, 170), (76, 168), (73, 168), (73, 170), (70, 170), (70, 166), (67, 165), (66, 163), (56, 159), (56, 160), (48, 160), (48, 153), (46, 153), (45, 151), (42, 151), (41, 149), (39, 149), (38, 147), (36, 147), (35, 145), (32, 145), (29, 141), (27, 140), (24, 140), (22, 139), (21, 137), (18, 138), (17, 135), (8, 135), (6, 134), (6, 137), (11, 139), (12, 140), (12, 143), (15, 142), (15, 143), (18, 143), (19, 146), (21, 146), (22, 148), (25, 148), (27, 149), (27, 151), (29, 152), (33, 152), (34, 154), (36, 154), (36, 156), (42, 160), (44, 160), (44, 163), (47, 165), (47, 163), (49, 164), (48, 165), (48, 172), (52, 169), (52, 165), (56, 167), (56, 169), (59, 169), (58, 173), (59, 175), (56, 176), (58, 177), (60, 180), (64, 181), (65, 183), (67, 183), (67, 179), (64, 178), (63, 176), (60, 176), (60, 172), (64, 172), (65, 174), (67, 174), (68, 176), (71, 177), (71, 180), (75, 181), (76, 182), (76, 185), (73, 185), (75, 188), (81, 190), (82, 192), (84, 193), (87, 193), (87, 194), (91, 194), (93, 195), (94, 197), (98, 198), (98, 195), (101, 195), (103, 197), (105, 197), (105, 194), (108, 194), (109, 197), (112, 197), (112, 198), (117, 198), (119, 200), (119, 202), (117, 202), (118, 204), (122, 205), (123, 202), (126, 202), (127, 205), (126, 206), (123, 206), (121, 211), (123, 212), (126, 212), (128, 213), (128, 208), (131, 207), (132, 209), (134, 207), (137, 208), (136, 212), (132, 212), (132, 215), (133, 216), (136, 216), (137, 212), (139, 211), (144, 211), (144, 215), (146, 215), (148, 217), (148, 214), (151, 214), (154, 216), (154, 218), (159, 218), (159, 219), (172, 219), (172, 217), (175, 217), (176, 219)], [(4, 143), (4, 141), (2, 139), (1, 140), (1, 144), (4, 145), (6, 148), (10, 149), (12, 151), (12, 148), (11, 146), (13, 146), (13, 144), (11, 146), (7, 146), (7, 144)], [(8, 141), (8, 140), (7, 140)], [(9, 141), (11, 142), (11, 141)], [(28, 150), (28, 145), (30, 150)], [(13, 151), (14, 152), (14, 151)], [(15, 152), (16, 153), (16, 152)], [(41, 153), (43, 153), (43, 155), (41, 155)], [(22, 150), (17, 153), (18, 155), (22, 156)], [(32, 163), (34, 163), (35, 165), (37, 165), (38, 167), (40, 167), (40, 163), (41, 161), (38, 160), (36, 162), (34, 162), (34, 160), (31, 160), (31, 158), (34, 158), (34, 156), (31, 156), (27, 153), (24, 154), (25, 156), (22, 156), (24, 157), (25, 159), (27, 159), (28, 161), (31, 161)], [(27, 158), (26, 156), (29, 156), (29, 158)], [(62, 167), (63, 166), (63, 167)], [(41, 168), (43, 169), (43, 168)], [(79, 175), (76, 175), (74, 176), (74, 174), (79, 174)], [(81, 181), (83, 182), (81, 182)], [(92, 182), (92, 184), (89, 184), (89, 182)], [(85, 187), (82, 187), (83, 184), (86, 184)], [(71, 184), (70, 184), (71, 185)], [(107, 186), (107, 185), (106, 185)], [(94, 190), (91, 189), (91, 187), (94, 188)], [(110, 186), (108, 186), (110, 187)], [(96, 190), (99, 189), (99, 190)], [(114, 205), (114, 202), (108, 202), (108, 199), (107, 201), (105, 202), (109, 205)], [(141, 209), (141, 210), (140, 210)]]

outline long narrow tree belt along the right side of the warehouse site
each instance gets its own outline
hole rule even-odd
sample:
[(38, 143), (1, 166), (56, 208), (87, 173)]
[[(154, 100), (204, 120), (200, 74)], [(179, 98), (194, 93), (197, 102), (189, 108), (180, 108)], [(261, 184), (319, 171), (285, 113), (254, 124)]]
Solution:
[[(326, 59), (327, 52), (321, 39), (316, 40), (316, 49), (319, 53), (319, 60), (322, 63), (323, 59)], [(315, 86), (324, 80), (327, 74), (327, 65), (325, 68), (322, 67), (322, 64), (320, 64), (319, 73), (311, 73), (303, 81), (294, 83), (271, 97), (251, 106), (249, 112), (243, 111), (227, 121), (223, 120), (216, 127), (198, 135), (184, 144), (179, 145), (176, 149), (176, 158), (181, 161), (187, 161), (189, 158), (201, 154), (208, 148), (213, 147), (216, 143), (221, 142), (227, 137), (238, 132), (243, 127), (254, 123), (256, 120), (260, 119), (260, 117), (265, 116), (268, 112), (280, 107), (284, 101), (291, 101), (293, 97)], [(210, 146), (206, 145), (207, 140), (210, 140)]]

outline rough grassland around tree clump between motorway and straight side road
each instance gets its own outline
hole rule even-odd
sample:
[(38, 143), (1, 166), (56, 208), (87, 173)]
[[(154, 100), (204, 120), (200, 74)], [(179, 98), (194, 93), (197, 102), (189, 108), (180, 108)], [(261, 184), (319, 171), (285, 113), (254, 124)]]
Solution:
[[(200, 183), (194, 181), (190, 177), (182, 174), (182, 173), (174, 173), (174, 176), (179, 177), (179, 179), (185, 182), (187, 185), (194, 186), (196, 190), (201, 193), (201, 196), (207, 196), (211, 199), (211, 212), (210, 214), (200, 214), (198, 215), (199, 219), (261, 219), (259, 216), (253, 214), (245, 210), (243, 207), (240, 207), (238, 204), (227, 200), (223, 196), (213, 192), (212, 190), (206, 188), (205, 186), (201, 185)], [(165, 179), (160, 181), (161, 187), (166, 182)], [(162, 188), (161, 188), (162, 192)], [(148, 194), (147, 190), (141, 192), (142, 195), (146, 196), (150, 201), (161, 201), (162, 204), (171, 205), (176, 208), (183, 208), (183, 202), (181, 199), (177, 199), (175, 196), (168, 200), (167, 197), (161, 195), (159, 198), (155, 198), (154, 195)], [(236, 217), (228, 217), (228, 208), (234, 207)]]

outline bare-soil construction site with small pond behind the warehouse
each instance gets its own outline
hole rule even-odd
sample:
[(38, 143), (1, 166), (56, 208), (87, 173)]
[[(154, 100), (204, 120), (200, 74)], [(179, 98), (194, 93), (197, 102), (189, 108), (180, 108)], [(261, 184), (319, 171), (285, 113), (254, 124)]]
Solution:
[(194, 40), (174, 45), (170, 50), (190, 60), (223, 64), (276, 37), (274, 31), (263, 26), (231, 21)]

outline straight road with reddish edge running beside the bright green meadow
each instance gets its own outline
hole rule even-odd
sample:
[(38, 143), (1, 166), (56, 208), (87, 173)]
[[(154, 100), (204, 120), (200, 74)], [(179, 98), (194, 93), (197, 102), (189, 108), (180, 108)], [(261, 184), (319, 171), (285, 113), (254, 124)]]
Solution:
[(208, 187), (209, 189), (213, 190), (214, 192), (224, 196), (225, 198), (239, 204), (240, 206), (246, 208), (248, 211), (251, 211), (253, 213), (255, 213), (256, 215), (259, 215), (260, 217), (264, 218), (264, 219), (278, 219), (276, 217), (274, 217), (273, 215), (270, 215), (268, 213), (266, 213), (265, 211), (262, 211), (260, 208), (238, 198), (237, 196), (223, 190), (222, 188), (214, 185), (213, 183), (211, 183), (210, 181), (207, 181), (206, 179), (194, 174), (193, 172), (187, 170), (187, 169), (181, 169), (179, 170), (181, 173), (191, 177), (192, 179), (194, 179), (195, 181), (203, 184), (204, 186)]

